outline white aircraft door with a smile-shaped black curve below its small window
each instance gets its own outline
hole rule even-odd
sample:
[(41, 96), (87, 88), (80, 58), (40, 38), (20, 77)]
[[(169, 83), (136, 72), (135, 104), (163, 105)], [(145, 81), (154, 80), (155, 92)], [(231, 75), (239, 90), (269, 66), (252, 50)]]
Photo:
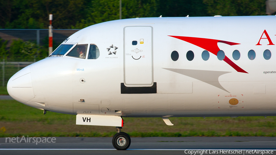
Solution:
[(124, 84), (153, 85), (153, 28), (127, 26), (124, 28)]

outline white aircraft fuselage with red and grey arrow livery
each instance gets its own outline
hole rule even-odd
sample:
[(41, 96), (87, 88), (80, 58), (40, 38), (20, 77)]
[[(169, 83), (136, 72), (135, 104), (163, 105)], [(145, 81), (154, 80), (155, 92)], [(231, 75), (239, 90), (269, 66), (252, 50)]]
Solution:
[[(66, 114), (276, 115), (275, 25), (276, 16), (104, 22), (70, 36), (62, 43), (73, 44), (66, 54), (25, 67), (10, 78), (7, 88), (23, 104)], [(80, 44), (87, 44), (87, 52), (96, 45), (98, 59), (67, 56)], [(231, 62), (217, 58), (218, 48)], [(271, 51), (269, 60), (264, 59), (266, 49)], [(238, 60), (232, 56), (235, 50), (240, 52)], [(255, 51), (254, 60), (248, 58), (250, 50)], [(176, 61), (173, 51), (178, 53)], [(188, 51), (194, 53), (191, 61)]]

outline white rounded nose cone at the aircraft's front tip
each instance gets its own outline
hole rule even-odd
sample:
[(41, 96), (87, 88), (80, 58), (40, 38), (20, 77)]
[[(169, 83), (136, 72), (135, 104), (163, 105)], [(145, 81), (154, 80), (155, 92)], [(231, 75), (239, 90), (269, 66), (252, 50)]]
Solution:
[(14, 74), (8, 81), (7, 89), (10, 96), (18, 102), (26, 103), (34, 98), (30, 66)]

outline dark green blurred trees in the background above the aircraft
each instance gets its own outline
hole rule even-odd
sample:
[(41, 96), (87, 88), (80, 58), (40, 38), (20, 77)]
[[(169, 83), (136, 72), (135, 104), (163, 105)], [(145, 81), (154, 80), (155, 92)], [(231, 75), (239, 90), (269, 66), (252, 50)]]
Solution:
[[(266, 0), (122, 0), (122, 19), (135, 17), (265, 15)], [(0, 28), (60, 29), (119, 19), (119, 0), (2, 0)]]

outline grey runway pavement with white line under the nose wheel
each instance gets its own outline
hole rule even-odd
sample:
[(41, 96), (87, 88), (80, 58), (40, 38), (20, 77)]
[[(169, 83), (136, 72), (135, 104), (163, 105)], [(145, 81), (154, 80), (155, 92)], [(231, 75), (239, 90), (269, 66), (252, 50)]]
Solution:
[[(18, 139), (20, 141), (21, 138)], [(128, 150), (113, 148), (112, 138), (56, 137), (50, 143), (17, 143), (0, 138), (0, 154), (191, 154), (191, 150), (206, 150), (193, 154), (276, 154), (275, 137), (146, 137), (131, 138)], [(185, 151), (186, 150), (186, 151)], [(221, 152), (231, 151), (232, 152)], [(233, 150), (241, 151), (234, 153)], [(267, 152), (269, 151), (270, 152)], [(271, 151), (273, 150), (273, 152)], [(190, 152), (189, 152), (190, 151)], [(189, 152), (189, 153), (188, 153)]]

